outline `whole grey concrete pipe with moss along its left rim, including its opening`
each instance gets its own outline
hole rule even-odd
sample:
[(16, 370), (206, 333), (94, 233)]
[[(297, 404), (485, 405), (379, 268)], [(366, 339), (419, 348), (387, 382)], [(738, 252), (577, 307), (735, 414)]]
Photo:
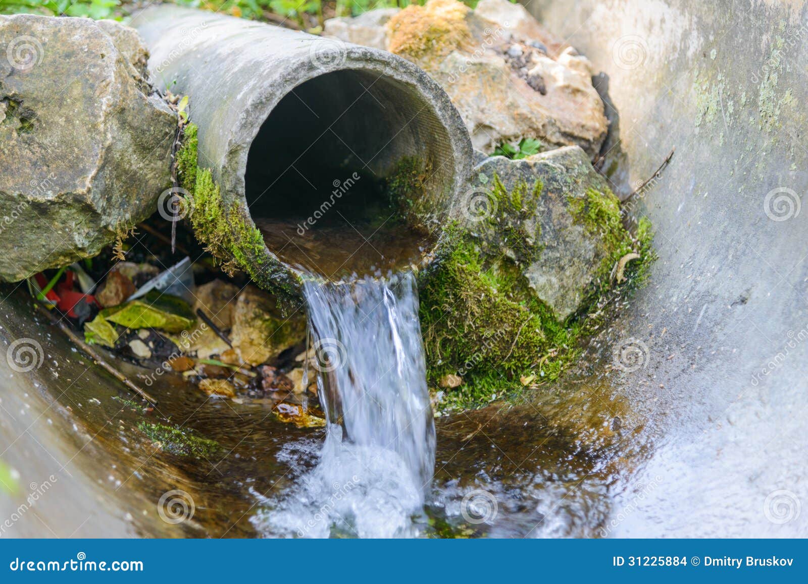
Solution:
[(197, 236), (224, 261), (297, 299), (291, 266), (339, 279), (415, 261), (431, 246), (472, 151), (460, 115), (421, 69), (177, 6), (132, 24), (155, 82), (189, 96), (181, 178)]

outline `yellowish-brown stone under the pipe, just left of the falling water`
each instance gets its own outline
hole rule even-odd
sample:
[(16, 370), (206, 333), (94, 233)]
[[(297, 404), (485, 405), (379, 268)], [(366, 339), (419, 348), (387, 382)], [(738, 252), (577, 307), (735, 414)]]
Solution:
[(260, 365), (305, 338), (305, 316), (297, 311), (284, 318), (275, 300), (255, 286), (238, 295), (230, 340), (242, 361)]

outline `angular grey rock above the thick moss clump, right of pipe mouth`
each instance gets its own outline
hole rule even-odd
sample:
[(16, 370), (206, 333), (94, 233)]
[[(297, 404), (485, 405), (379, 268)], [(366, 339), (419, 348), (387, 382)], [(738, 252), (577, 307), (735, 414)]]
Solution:
[[(599, 219), (589, 215), (593, 207), (618, 219), (620, 213), (587, 154), (567, 146), (520, 161), (491, 156), (474, 168), (472, 185), (458, 215), (465, 228), (485, 250), (515, 261), (556, 319), (577, 311), (612, 257), (612, 241), (623, 233), (619, 225), (587, 220)], [(508, 197), (519, 190), (520, 209), (512, 208)], [(610, 232), (615, 227), (619, 232)]]

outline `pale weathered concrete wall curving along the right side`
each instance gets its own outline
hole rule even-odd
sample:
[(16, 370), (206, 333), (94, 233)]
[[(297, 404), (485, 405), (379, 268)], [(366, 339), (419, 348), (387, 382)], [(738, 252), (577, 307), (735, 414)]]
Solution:
[(659, 261), (600, 340), (607, 362), (646, 347), (621, 377), (646, 453), (609, 534), (808, 535), (806, 2), (529, 6), (604, 72), (616, 192), (676, 148), (633, 204)]

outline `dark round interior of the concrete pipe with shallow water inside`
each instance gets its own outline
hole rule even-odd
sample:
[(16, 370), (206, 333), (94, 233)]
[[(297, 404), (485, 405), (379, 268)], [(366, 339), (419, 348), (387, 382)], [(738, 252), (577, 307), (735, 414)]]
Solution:
[[(420, 215), (389, 179), (426, 164)], [(361, 70), (305, 81), (281, 99), (250, 146), (246, 200), (267, 248), (338, 280), (418, 263), (428, 223), (446, 211), (454, 161), (447, 132), (411, 86)], [(402, 206), (403, 205), (403, 206)], [(432, 235), (430, 235), (432, 232)]]

